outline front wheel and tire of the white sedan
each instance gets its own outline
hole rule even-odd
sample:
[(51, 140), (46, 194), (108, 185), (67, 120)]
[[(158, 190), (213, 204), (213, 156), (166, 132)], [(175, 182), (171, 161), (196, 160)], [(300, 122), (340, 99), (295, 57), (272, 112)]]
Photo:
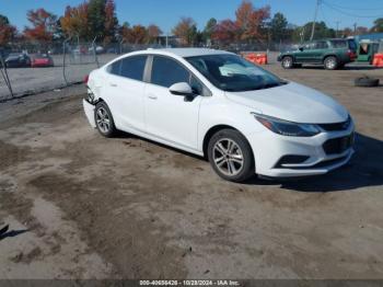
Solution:
[(214, 172), (223, 180), (240, 183), (255, 175), (252, 148), (237, 130), (217, 131), (209, 140), (208, 158)]

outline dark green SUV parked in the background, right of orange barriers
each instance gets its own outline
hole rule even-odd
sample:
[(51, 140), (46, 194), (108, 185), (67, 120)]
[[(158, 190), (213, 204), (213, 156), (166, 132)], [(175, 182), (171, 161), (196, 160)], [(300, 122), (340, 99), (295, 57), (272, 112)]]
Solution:
[(302, 65), (323, 65), (327, 70), (343, 68), (357, 58), (353, 39), (333, 38), (306, 42), (298, 49), (282, 51), (278, 56), (285, 69), (300, 68)]

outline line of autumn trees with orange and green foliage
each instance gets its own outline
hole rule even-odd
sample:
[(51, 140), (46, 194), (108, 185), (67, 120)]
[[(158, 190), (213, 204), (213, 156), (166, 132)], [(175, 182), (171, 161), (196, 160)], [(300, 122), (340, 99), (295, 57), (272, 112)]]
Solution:
[[(30, 25), (23, 31), (12, 25), (5, 15), (0, 14), (0, 46), (12, 42), (51, 43), (65, 38), (96, 41), (97, 43), (156, 43), (163, 35), (155, 24), (130, 26), (128, 22), (119, 24), (114, 0), (85, 0), (77, 7), (66, 7), (63, 15), (57, 16), (44, 8), (26, 13)], [(288, 22), (278, 12), (271, 18), (270, 7), (255, 8), (249, 0), (243, 0), (235, 11), (235, 19), (218, 21), (211, 18), (202, 30), (192, 18), (182, 18), (172, 30), (183, 45), (230, 44), (230, 43), (298, 43), (309, 39), (312, 22), (297, 26)], [(346, 27), (335, 31), (325, 22), (315, 25), (315, 38), (346, 37), (383, 32), (383, 18), (376, 19), (373, 26)]]

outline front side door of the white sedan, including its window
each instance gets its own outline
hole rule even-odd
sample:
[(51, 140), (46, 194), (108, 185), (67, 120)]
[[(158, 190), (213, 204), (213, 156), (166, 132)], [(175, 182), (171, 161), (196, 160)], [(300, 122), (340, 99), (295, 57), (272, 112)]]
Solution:
[[(199, 81), (181, 62), (164, 56), (153, 56), (150, 83), (144, 89), (147, 133), (166, 141), (197, 149), (199, 106), (202, 101)], [(187, 82), (196, 96), (185, 101), (169, 88)]]

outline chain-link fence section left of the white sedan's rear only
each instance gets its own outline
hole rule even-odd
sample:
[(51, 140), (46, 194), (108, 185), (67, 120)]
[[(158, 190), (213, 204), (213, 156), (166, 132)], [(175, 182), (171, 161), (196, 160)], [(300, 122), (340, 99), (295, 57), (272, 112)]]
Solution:
[[(98, 55), (100, 54), (100, 55)], [(0, 50), (0, 101), (80, 82), (116, 55), (90, 43), (18, 44)]]

